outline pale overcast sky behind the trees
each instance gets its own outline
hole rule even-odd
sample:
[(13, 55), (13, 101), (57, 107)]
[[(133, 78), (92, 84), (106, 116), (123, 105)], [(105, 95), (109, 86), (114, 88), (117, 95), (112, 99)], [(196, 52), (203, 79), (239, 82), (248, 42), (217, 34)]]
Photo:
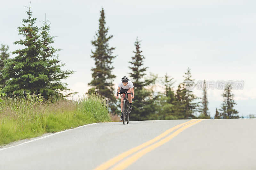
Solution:
[[(1, 1), (0, 43), (13, 45), (20, 38), (17, 27), (25, 19), (30, 1)], [(187, 68), (192, 78), (207, 81), (243, 80), (243, 90), (233, 90), (235, 108), (245, 117), (256, 113), (256, 1), (183, 0), (183, 1), (67, 1), (31, 0), (33, 17), (51, 22), (51, 35), (57, 36), (54, 47), (61, 48), (64, 69), (74, 70), (65, 82), (82, 95), (89, 89), (90, 58), (98, 29), (101, 7), (104, 8), (109, 45), (116, 47), (113, 73), (117, 84), (130, 72), (129, 61), (138, 36), (148, 73), (164, 76), (167, 72), (176, 83), (183, 81)], [(157, 88), (161, 90), (161, 87)], [(209, 89), (211, 116), (220, 108), (223, 90)], [(202, 91), (195, 90), (198, 97)], [(135, 91), (136, 94), (136, 91)], [(77, 97), (76, 95), (75, 97)]]

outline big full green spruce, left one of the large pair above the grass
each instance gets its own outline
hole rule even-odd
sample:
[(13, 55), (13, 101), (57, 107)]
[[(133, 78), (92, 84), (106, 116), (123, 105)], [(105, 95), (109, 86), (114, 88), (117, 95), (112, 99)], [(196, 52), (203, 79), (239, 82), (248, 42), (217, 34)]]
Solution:
[(23, 96), (26, 93), (40, 93), (39, 86), (47, 79), (47, 75), (40, 70), (44, 62), (39, 59), (41, 51), (39, 28), (35, 25), (36, 18), (32, 18), (30, 6), (27, 16), (27, 19), (22, 20), (22, 26), (18, 27), (19, 35), (24, 39), (14, 42), (25, 48), (12, 52), (17, 56), (7, 59), (3, 69), (6, 80), (3, 92), (7, 95)]

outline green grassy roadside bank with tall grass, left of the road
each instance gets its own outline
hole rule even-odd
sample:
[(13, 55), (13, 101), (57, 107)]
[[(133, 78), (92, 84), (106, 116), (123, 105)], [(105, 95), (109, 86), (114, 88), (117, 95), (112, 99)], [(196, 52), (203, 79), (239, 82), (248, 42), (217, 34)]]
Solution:
[(110, 122), (105, 99), (97, 95), (76, 101), (41, 102), (39, 97), (0, 102), (0, 145), (94, 122)]

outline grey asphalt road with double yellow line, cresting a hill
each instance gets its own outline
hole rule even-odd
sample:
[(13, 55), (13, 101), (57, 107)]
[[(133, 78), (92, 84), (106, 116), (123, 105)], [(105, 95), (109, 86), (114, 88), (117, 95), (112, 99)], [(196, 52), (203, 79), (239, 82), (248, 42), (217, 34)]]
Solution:
[(0, 148), (0, 169), (256, 169), (256, 119), (188, 121), (98, 123), (19, 141)]

